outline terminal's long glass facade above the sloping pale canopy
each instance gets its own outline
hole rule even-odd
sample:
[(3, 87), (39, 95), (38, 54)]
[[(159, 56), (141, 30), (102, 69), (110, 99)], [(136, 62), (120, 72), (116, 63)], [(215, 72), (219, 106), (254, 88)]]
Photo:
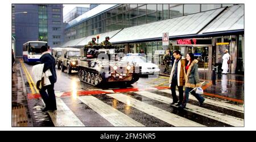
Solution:
[[(65, 29), (65, 41), (111, 32), (117, 29), (177, 18), (226, 5), (122, 4)], [(54, 22), (57, 24), (56, 22)]]

